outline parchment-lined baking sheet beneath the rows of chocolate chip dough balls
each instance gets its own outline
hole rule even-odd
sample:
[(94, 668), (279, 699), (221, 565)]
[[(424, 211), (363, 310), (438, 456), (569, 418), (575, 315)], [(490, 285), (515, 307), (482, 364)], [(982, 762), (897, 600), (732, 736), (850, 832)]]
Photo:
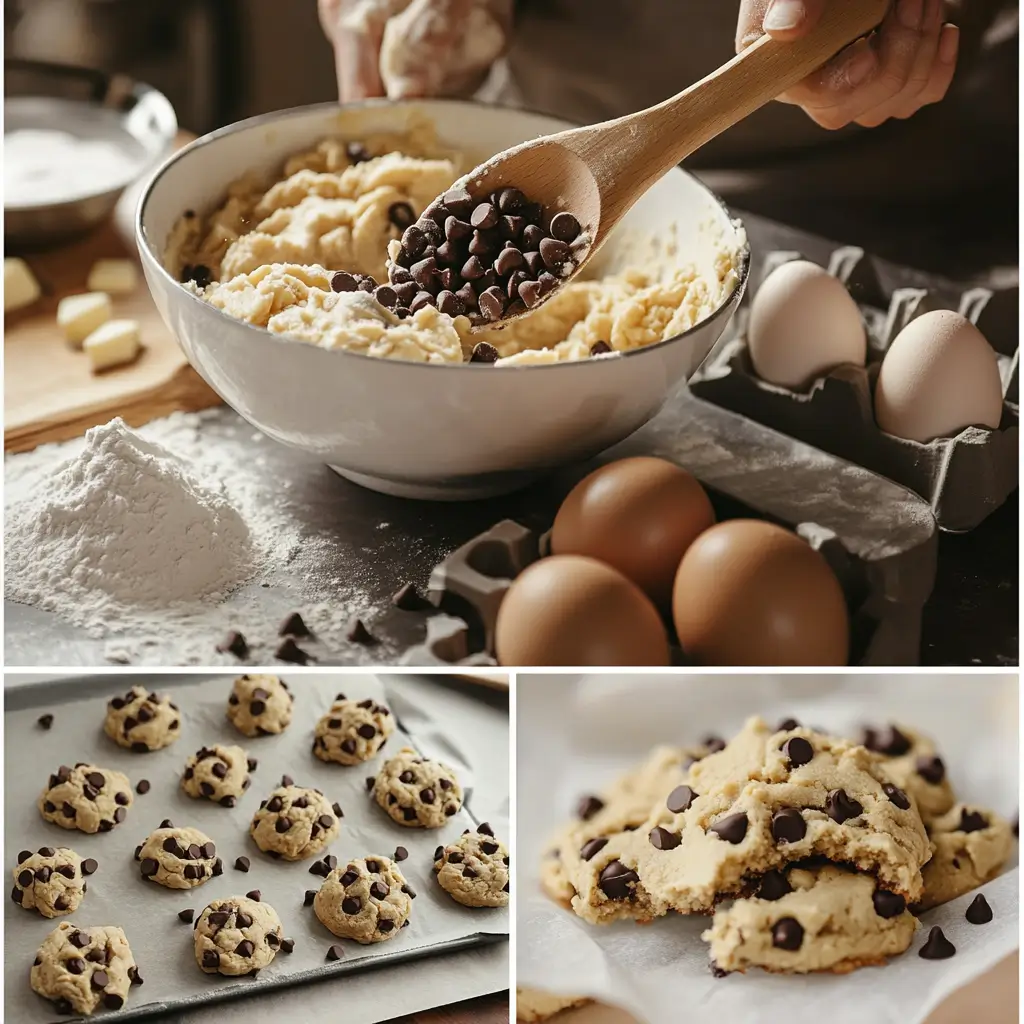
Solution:
[[(22, 1024), (68, 1018), (57, 1016), (48, 1002), (28, 985), (32, 956), (48, 932), (60, 920), (76, 925), (117, 924), (125, 929), (132, 951), (145, 979), (135, 988), (118, 1020), (137, 1020), (154, 1013), (184, 1010), (218, 999), (255, 994), (286, 985), (323, 977), (386, 966), (388, 963), (503, 941), (509, 931), (507, 909), (472, 910), (455, 903), (433, 878), (435, 847), (457, 838), (477, 821), (467, 807), (444, 828), (404, 828), (391, 819), (368, 797), (365, 779), (376, 773), (386, 758), (402, 745), (440, 756), (456, 770), (465, 790), (468, 807), (473, 804), (474, 776), (465, 744), (445, 730), (446, 723), (431, 723), (430, 729), (444, 736), (443, 750), (436, 739), (419, 740), (426, 729), (429, 700), (410, 708), (417, 723), (413, 734), (402, 728), (388, 739), (383, 751), (365, 765), (345, 768), (327, 765), (310, 752), (312, 729), (334, 695), (373, 697), (392, 707), (404, 725), (402, 699), (392, 701), (386, 681), (371, 676), (337, 676), (318, 673), (288, 673), (295, 711), (289, 728), (280, 736), (248, 739), (234, 732), (224, 717), (227, 694), (234, 674), (219, 677), (99, 677), (65, 680), (8, 688), (5, 692), (5, 860), (12, 870), (23, 849), (43, 845), (71, 846), (83, 856), (93, 856), (99, 868), (89, 879), (89, 892), (74, 914), (48, 922), (6, 901), (5, 918), (5, 1017)], [(160, 692), (172, 694), (181, 709), (181, 736), (163, 751), (133, 755), (117, 746), (102, 733), (106, 700), (124, 692), (135, 681)], [(407, 701), (408, 703), (408, 701)], [(54, 714), (53, 726), (43, 731), (36, 719), (43, 712)], [(415, 711), (415, 714), (413, 712)], [(258, 766), (253, 784), (234, 808), (222, 808), (210, 801), (191, 800), (179, 788), (185, 758), (203, 744), (230, 742), (244, 746)], [(146, 778), (152, 790), (136, 794), (126, 821), (105, 835), (87, 836), (66, 831), (40, 817), (35, 802), (47, 775), (61, 763), (89, 761), (124, 771), (133, 783)], [(302, 905), (306, 889), (318, 887), (322, 879), (309, 874), (313, 859), (297, 863), (273, 861), (249, 839), (248, 823), (259, 802), (265, 799), (282, 774), (292, 775), (300, 785), (324, 791), (344, 810), (342, 830), (330, 852), (339, 858), (378, 853), (391, 856), (396, 846), (409, 850), (400, 863), (402, 873), (417, 893), (409, 928), (386, 942), (371, 946), (339, 940), (316, 920), (311, 907)], [(193, 824), (203, 829), (217, 845), (224, 873), (196, 890), (178, 891), (144, 882), (134, 860), (135, 847), (160, 821), (169, 817), (175, 824)], [(505, 839), (506, 837), (502, 836)], [(236, 857), (249, 857), (248, 873), (234, 869)], [(274, 907), (285, 934), (296, 941), (295, 951), (279, 953), (270, 967), (257, 978), (230, 979), (204, 975), (196, 967), (189, 925), (177, 919), (178, 910), (190, 907), (197, 915), (217, 897), (241, 895), (252, 889), (262, 892), (264, 902)], [(341, 942), (345, 955), (325, 963), (328, 948)], [(386, 1008), (385, 1008), (386, 1009)]]

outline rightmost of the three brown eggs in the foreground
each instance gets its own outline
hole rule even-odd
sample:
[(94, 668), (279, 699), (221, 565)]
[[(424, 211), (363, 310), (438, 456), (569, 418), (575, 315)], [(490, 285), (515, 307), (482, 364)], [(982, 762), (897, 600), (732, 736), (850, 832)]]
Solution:
[(849, 618), (824, 558), (781, 526), (730, 519), (690, 545), (673, 617), (699, 665), (846, 665)]

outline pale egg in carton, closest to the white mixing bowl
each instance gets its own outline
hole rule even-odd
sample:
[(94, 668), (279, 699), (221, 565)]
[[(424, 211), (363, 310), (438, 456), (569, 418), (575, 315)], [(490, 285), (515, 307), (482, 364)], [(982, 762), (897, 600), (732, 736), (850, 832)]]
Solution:
[(806, 260), (783, 263), (758, 289), (748, 344), (757, 375), (793, 390), (867, 357), (857, 304), (842, 282)]

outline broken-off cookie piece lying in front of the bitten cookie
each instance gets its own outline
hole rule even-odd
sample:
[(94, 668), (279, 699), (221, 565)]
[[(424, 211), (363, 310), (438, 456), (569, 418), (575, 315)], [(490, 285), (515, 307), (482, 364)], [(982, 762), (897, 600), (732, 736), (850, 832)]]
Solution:
[(846, 974), (903, 952), (916, 927), (902, 896), (827, 865), (774, 872), (757, 897), (716, 910), (702, 938), (722, 971)]

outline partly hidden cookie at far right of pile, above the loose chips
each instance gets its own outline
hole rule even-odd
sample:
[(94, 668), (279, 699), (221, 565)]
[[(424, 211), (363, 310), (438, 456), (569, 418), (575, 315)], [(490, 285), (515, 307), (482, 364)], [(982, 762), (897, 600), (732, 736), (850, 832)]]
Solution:
[(920, 908), (948, 903), (990, 882), (1002, 870), (1013, 849), (1010, 822), (974, 804), (956, 804), (932, 822), (935, 845), (925, 865), (925, 894)]

